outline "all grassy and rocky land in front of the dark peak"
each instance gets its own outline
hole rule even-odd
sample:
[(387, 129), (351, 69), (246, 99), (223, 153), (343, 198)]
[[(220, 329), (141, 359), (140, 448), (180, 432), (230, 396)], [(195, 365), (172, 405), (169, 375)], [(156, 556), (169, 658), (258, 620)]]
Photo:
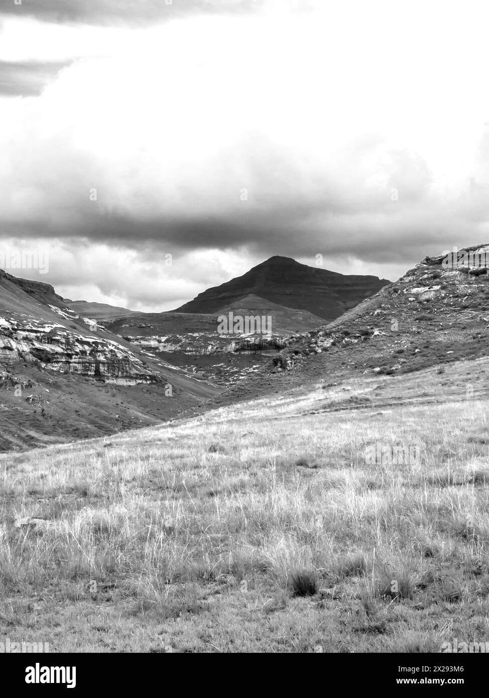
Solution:
[(220, 309), (275, 313), (256, 338), (219, 313), (84, 318), (7, 278), (3, 623), (57, 652), (486, 637), (489, 285), (471, 272), (426, 258), (314, 327), (259, 297)]

